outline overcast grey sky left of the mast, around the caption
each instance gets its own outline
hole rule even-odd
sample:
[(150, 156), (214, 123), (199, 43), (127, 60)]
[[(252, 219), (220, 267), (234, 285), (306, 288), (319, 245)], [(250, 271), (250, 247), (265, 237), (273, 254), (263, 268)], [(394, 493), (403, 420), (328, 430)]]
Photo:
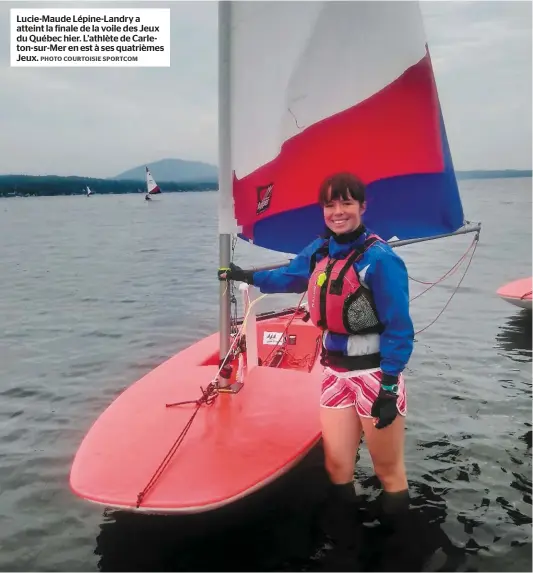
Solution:
[[(132, 5), (171, 7), (170, 68), (10, 68), (4, 43), (0, 172), (111, 176), (163, 157), (216, 162), (216, 5)], [(0, 37), (13, 6), (120, 4), (2, 3)]]

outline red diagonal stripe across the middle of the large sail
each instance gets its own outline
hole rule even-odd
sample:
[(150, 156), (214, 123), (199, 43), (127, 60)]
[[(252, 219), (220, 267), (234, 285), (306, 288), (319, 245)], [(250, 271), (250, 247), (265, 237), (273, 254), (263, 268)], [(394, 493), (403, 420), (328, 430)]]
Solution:
[[(338, 171), (356, 173), (367, 184), (399, 175), (442, 172), (439, 117), (426, 53), (378, 93), (295, 135), (274, 160), (241, 180), (235, 177), (238, 224), (249, 227), (263, 217), (316, 203), (322, 180)], [(269, 184), (273, 184), (271, 195), (257, 214), (261, 193)]]

